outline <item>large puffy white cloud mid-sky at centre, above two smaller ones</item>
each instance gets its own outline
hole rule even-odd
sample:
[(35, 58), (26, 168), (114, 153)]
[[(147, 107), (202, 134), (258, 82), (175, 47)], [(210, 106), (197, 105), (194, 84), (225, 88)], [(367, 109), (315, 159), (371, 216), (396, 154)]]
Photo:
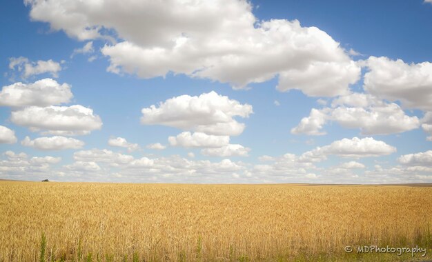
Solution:
[(141, 110), (144, 125), (167, 125), (206, 134), (238, 135), (245, 128), (233, 117), (249, 117), (252, 106), (212, 91), (199, 97), (182, 95)]

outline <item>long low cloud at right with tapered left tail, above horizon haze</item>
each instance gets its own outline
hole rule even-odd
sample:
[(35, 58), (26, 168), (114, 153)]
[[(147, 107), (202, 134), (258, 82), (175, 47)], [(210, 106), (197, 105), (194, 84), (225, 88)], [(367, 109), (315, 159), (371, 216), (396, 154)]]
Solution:
[(342, 139), (325, 145), (323, 147), (317, 147), (314, 150), (305, 152), (302, 154), (304, 159), (315, 159), (321, 161), (326, 158), (329, 154), (335, 154), (340, 157), (379, 157), (386, 154), (392, 154), (396, 152), (396, 148), (386, 144), (383, 141), (377, 141), (372, 137), (365, 137), (359, 139), (354, 137), (353, 139)]

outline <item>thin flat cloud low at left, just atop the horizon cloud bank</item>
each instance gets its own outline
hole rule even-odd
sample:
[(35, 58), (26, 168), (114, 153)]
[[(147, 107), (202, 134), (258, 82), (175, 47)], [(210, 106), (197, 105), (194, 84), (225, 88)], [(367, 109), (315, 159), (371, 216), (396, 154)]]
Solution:
[(134, 158), (128, 154), (120, 154), (106, 149), (93, 148), (92, 150), (81, 150), (73, 154), (75, 161), (93, 161), (103, 163), (126, 164)]

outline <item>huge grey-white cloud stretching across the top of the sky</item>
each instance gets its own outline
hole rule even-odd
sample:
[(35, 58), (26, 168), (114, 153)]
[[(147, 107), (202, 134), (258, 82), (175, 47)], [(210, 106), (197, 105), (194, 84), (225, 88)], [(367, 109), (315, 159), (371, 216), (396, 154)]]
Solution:
[(344, 94), (360, 77), (360, 67), (326, 32), (297, 20), (257, 21), (248, 1), (26, 3), (33, 20), (79, 40), (115, 31), (119, 43), (101, 50), (110, 72), (143, 78), (174, 72), (234, 88), (279, 75), (279, 90), (312, 96)]

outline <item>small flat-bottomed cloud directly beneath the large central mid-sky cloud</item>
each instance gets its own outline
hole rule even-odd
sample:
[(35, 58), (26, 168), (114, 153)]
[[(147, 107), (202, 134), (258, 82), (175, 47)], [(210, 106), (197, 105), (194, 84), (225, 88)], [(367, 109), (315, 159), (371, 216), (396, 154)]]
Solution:
[(170, 145), (182, 148), (220, 148), (228, 145), (230, 137), (215, 136), (202, 132), (194, 132), (193, 134), (182, 132), (177, 134), (177, 137), (168, 137), (168, 141)]

